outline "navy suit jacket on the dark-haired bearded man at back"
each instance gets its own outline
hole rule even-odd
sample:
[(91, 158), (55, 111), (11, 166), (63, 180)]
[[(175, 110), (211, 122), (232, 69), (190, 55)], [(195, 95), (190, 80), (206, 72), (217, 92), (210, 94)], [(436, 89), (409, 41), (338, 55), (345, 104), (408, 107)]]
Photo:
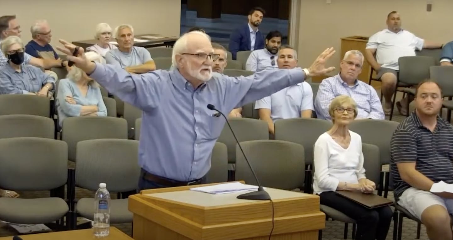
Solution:
[[(244, 24), (240, 28), (235, 29), (230, 35), (230, 44), (228, 45), (233, 60), (236, 60), (236, 52), (250, 51), (250, 28), (249, 24)], [(264, 48), (264, 37), (261, 31), (256, 32), (255, 49)]]

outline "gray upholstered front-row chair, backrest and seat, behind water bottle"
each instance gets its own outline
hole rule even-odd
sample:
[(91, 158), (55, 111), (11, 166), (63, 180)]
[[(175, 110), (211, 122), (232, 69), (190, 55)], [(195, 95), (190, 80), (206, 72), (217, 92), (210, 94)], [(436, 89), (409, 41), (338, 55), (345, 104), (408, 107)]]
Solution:
[[(136, 191), (140, 177), (138, 148), (139, 141), (127, 139), (78, 142), (75, 186), (96, 191), (100, 183), (105, 183), (110, 193)], [(111, 199), (110, 203), (111, 224), (132, 222), (127, 198)], [(94, 198), (81, 198), (76, 204), (76, 214), (93, 220), (93, 206)]]

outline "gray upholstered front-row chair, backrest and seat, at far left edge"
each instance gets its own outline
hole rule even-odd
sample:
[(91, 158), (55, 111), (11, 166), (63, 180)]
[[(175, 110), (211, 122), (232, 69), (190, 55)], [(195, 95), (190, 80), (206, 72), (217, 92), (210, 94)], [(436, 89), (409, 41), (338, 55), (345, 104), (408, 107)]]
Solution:
[(62, 198), (0, 198), (1, 220), (18, 224), (63, 222), (63, 217), (69, 216), (63, 199), (66, 181), (66, 142), (39, 137), (0, 139), (0, 188), (63, 189)]

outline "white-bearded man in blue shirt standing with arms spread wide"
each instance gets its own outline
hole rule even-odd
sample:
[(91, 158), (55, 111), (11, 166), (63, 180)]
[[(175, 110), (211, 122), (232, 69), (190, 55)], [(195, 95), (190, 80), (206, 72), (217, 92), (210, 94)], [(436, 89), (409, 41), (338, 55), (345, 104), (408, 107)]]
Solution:
[(225, 120), (223, 113), (268, 96), (312, 75), (333, 71), (325, 62), (335, 52), (326, 49), (308, 69), (264, 70), (248, 77), (212, 74), (211, 41), (205, 33), (184, 34), (173, 46), (175, 70), (129, 74), (118, 66), (87, 61), (83, 50), (60, 40), (68, 60), (121, 100), (143, 111), (139, 189), (200, 184), (211, 167), (211, 153)]

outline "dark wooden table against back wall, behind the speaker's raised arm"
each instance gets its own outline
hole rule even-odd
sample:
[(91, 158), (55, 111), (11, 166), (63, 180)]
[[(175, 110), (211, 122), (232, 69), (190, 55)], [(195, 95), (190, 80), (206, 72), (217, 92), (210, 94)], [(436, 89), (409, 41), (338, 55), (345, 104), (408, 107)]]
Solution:
[[(161, 37), (158, 39), (146, 39), (146, 38), (140, 38), (143, 36), (153, 36), (153, 37)], [(178, 40), (177, 37), (165, 37), (159, 34), (140, 34), (140, 35), (135, 35), (134, 38), (140, 38), (143, 40), (148, 40), (146, 42), (134, 42), (134, 46), (137, 47), (173, 47), (174, 42)], [(115, 41), (115, 38), (112, 39), (112, 41)], [(91, 39), (91, 40), (83, 40), (83, 41), (74, 41), (72, 44), (76, 46), (83, 47), (84, 49), (87, 49), (87, 47), (95, 45), (97, 42), (96, 39)]]

